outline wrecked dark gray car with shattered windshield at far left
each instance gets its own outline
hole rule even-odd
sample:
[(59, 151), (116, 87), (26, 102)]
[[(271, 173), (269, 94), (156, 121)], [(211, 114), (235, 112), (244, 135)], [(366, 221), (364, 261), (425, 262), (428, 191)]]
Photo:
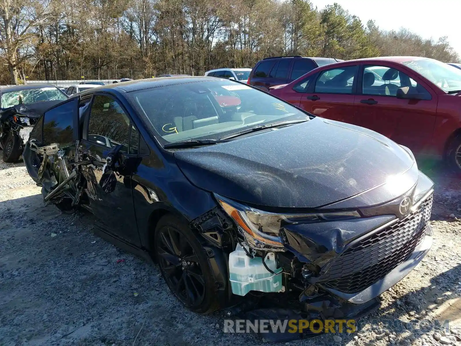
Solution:
[(5, 162), (17, 162), (30, 131), (44, 111), (67, 99), (50, 84), (18, 85), (0, 89), (0, 149)]

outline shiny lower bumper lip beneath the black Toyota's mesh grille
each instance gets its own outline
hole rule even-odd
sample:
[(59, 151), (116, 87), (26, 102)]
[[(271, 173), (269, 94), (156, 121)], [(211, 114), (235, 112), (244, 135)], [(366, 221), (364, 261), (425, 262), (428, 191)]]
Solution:
[(359, 293), (344, 293), (328, 287), (323, 287), (325, 291), (328, 291), (335, 296), (347, 300), (349, 303), (353, 304), (363, 304), (367, 301), (377, 297), (390, 287), (394, 286), (397, 282), (402, 280), (405, 276), (408, 275), (410, 271), (416, 267), (424, 256), (431, 250), (432, 246), (432, 230), (431, 226), (428, 224), (426, 227), (426, 236), (420, 242), (420, 244), (414, 249), (413, 253), (407, 260), (399, 264), (396, 268), (390, 271), (389, 274), (384, 276), (381, 280), (375, 282), (371, 286), (367, 287)]

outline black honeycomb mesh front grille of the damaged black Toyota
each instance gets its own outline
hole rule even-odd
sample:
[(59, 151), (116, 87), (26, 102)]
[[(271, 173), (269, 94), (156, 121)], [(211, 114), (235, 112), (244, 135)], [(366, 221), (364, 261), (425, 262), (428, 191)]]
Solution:
[(344, 293), (363, 291), (404, 262), (426, 233), (432, 194), (405, 219), (353, 243), (333, 259), (319, 278), (324, 286)]

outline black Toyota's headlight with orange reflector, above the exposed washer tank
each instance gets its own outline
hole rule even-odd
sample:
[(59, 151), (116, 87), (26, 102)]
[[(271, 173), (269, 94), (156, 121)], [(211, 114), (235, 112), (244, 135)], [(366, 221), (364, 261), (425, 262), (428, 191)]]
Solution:
[(360, 217), (360, 214), (355, 210), (306, 214), (269, 213), (237, 203), (217, 194), (214, 196), (227, 215), (239, 226), (248, 245), (257, 249), (270, 248), (272, 251), (284, 251), (284, 244), (280, 238), (280, 228), (287, 224), (332, 221), (337, 219), (347, 220)]

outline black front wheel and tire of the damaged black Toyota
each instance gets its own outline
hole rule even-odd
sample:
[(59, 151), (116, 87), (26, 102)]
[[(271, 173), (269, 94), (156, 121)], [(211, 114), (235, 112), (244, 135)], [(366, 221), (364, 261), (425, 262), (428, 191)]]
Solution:
[(219, 310), (207, 253), (185, 222), (171, 214), (160, 219), (154, 255), (166, 284), (185, 307), (200, 314)]

